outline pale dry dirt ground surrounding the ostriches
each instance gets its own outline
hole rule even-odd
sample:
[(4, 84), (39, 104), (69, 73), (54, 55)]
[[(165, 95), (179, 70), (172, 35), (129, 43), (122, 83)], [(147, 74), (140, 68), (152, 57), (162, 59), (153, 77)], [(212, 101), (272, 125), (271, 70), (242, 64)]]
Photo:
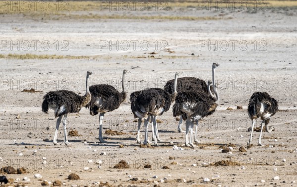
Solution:
[[(0, 14), (0, 164), (2, 169), (12, 166), (29, 171), (2, 172), (10, 179), (5, 186), (39, 187), (43, 180), (59, 180), (62, 186), (69, 187), (296, 185), (296, 8), (208, 11), (190, 6), (166, 12), (98, 12), (213, 19), (74, 19)], [(79, 14), (88, 15), (84, 11)], [(109, 42), (113, 44), (111, 50)], [(27, 57), (20, 56), (24, 54)], [(72, 145), (53, 145), (56, 119), (52, 110), (49, 114), (41, 111), (42, 97), (58, 89), (82, 95), (86, 71), (93, 72), (90, 85), (108, 83), (121, 91), (122, 71), (129, 70), (125, 81), (129, 96), (146, 87), (162, 88), (176, 71), (182, 76), (211, 79), (213, 62), (220, 64), (216, 79), (221, 101), (217, 111), (200, 122), (200, 143), (195, 148), (183, 145), (185, 135), (177, 132), (178, 121), (171, 109), (158, 117), (162, 122), (159, 146), (140, 148), (128, 98), (117, 110), (105, 114), (103, 137), (107, 143), (98, 143), (99, 116), (91, 116), (88, 109), (82, 108), (68, 115), (68, 131), (78, 132), (77, 136), (68, 136)], [(22, 92), (31, 88), (41, 92)], [(247, 148), (251, 120), (246, 109), (255, 91), (268, 92), (278, 100), (280, 110), (270, 120), (276, 130), (263, 133), (265, 146), (257, 146), (259, 132), (255, 132), (253, 146)], [(123, 134), (105, 134), (107, 129)], [(142, 126), (142, 135), (143, 130)], [(149, 135), (151, 139), (151, 132)], [(62, 125), (58, 139), (63, 143)], [(232, 154), (222, 153), (220, 148), (230, 143)], [(183, 150), (173, 150), (173, 145)], [(246, 152), (239, 151), (241, 146)], [(114, 168), (121, 160), (129, 168)], [(229, 162), (225, 166), (213, 165), (222, 161)], [(71, 173), (80, 179), (67, 179)], [(42, 178), (34, 178), (34, 174)], [(273, 179), (276, 176), (278, 180)], [(24, 177), (30, 181), (24, 181)], [(205, 178), (209, 182), (204, 182)]]

